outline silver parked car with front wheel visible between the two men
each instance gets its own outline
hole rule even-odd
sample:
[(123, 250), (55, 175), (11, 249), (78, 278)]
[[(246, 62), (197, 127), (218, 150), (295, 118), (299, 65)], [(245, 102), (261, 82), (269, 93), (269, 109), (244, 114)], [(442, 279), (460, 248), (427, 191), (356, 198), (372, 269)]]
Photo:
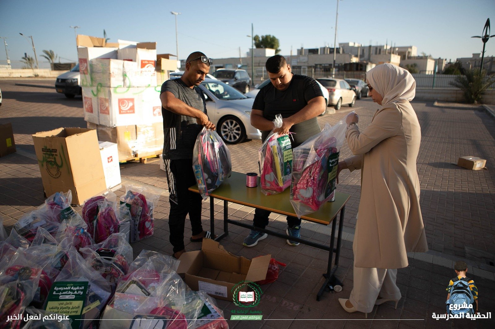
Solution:
[(227, 144), (237, 144), (245, 139), (261, 139), (261, 131), (251, 125), (254, 99), (217, 79), (205, 79), (199, 88), (205, 95), (208, 117)]

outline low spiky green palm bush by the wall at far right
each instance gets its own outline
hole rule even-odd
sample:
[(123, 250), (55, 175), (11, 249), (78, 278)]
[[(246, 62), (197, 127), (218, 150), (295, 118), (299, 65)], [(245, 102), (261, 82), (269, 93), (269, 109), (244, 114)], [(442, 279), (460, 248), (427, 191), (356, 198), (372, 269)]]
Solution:
[(464, 99), (469, 104), (476, 104), (481, 101), (481, 97), (492, 84), (495, 83), (495, 76), (487, 75), (487, 72), (479, 69), (464, 70), (464, 75), (455, 77), (451, 85), (464, 91)]

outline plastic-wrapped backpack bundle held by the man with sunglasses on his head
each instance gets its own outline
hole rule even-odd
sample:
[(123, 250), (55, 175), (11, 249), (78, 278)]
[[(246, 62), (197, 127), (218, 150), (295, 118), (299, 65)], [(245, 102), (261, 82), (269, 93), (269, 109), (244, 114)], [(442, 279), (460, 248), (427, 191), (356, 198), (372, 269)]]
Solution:
[(230, 177), (230, 151), (214, 130), (203, 128), (199, 132), (193, 150), (193, 170), (204, 200)]

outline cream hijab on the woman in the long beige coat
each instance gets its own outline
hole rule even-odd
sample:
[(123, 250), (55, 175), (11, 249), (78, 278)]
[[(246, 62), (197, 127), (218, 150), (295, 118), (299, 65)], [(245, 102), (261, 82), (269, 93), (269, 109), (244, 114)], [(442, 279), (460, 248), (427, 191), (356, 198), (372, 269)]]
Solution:
[(405, 103), (416, 94), (416, 81), (409, 71), (393, 64), (380, 64), (366, 72), (367, 82), (383, 96), (382, 106)]

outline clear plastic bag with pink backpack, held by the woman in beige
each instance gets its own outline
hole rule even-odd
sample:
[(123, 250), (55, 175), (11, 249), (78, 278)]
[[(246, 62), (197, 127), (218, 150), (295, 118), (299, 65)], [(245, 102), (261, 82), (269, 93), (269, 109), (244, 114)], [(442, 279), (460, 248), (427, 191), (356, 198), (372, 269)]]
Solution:
[(333, 201), (339, 151), (345, 140), (345, 119), (323, 130), (294, 149), (291, 204), (301, 217)]

